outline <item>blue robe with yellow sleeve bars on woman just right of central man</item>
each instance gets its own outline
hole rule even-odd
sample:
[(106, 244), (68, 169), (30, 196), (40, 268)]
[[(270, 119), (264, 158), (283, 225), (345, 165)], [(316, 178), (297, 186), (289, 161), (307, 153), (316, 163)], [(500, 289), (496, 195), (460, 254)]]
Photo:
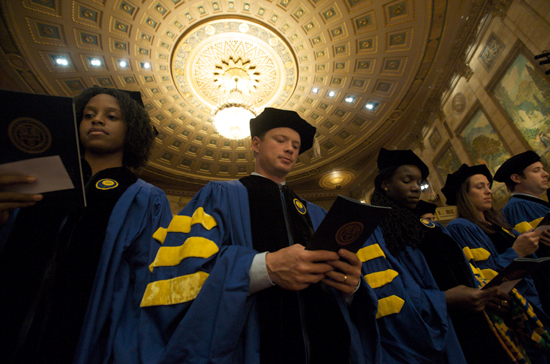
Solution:
[(378, 298), (383, 363), (466, 363), (445, 293), (419, 249), (393, 256), (378, 227), (357, 255)]

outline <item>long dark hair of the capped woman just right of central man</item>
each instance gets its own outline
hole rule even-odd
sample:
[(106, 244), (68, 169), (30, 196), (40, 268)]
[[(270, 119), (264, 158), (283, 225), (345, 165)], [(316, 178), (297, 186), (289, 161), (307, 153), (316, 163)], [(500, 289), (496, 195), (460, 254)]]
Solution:
[(374, 192), (371, 204), (391, 207), (380, 226), (384, 232), (384, 241), (391, 254), (397, 256), (407, 246), (416, 248), (424, 238), (424, 232), (418, 223), (419, 217), (410, 209), (401, 207), (386, 194), (382, 183), (393, 177), (398, 166), (386, 168), (374, 178)]

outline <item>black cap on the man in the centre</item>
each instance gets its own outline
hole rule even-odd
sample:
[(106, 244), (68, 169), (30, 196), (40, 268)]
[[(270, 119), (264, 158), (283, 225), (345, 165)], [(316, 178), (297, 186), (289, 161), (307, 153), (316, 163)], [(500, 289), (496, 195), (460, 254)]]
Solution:
[(275, 128), (291, 128), (300, 134), (300, 154), (313, 146), (315, 137), (314, 126), (302, 119), (296, 111), (266, 107), (254, 119), (250, 119), (250, 137), (259, 137), (262, 133)]

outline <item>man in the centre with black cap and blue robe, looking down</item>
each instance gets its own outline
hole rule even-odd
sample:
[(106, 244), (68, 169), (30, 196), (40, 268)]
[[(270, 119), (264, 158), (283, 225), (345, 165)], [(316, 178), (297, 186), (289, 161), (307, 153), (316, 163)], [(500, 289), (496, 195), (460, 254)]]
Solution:
[(155, 238), (142, 357), (162, 363), (376, 363), (376, 298), (347, 250), (304, 246), (326, 211), (288, 188), (315, 128), (266, 108), (255, 172), (211, 182)]

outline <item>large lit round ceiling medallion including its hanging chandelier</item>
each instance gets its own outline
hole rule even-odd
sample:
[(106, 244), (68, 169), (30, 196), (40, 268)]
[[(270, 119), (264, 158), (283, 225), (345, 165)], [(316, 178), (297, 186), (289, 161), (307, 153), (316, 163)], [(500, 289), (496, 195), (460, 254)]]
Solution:
[[(283, 107), (298, 81), (296, 59), (283, 37), (259, 24), (229, 18), (183, 34), (172, 71), (180, 94), (193, 108), (210, 114), (208, 121), (229, 139), (249, 136), (248, 122), (256, 110)], [(226, 125), (234, 120), (240, 124)]]

